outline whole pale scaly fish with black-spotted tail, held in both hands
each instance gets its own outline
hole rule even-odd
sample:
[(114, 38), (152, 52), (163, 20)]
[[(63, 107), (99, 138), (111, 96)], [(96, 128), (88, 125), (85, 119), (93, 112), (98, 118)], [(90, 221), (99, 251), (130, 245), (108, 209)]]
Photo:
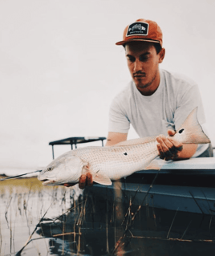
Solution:
[[(203, 132), (194, 108), (173, 136), (183, 144), (206, 144), (209, 137)], [(154, 164), (159, 156), (156, 136), (125, 140), (110, 147), (76, 148), (52, 161), (39, 173), (43, 185), (79, 183), (82, 174), (91, 173), (93, 181), (112, 185), (112, 181), (128, 177), (144, 169), (160, 169)]]

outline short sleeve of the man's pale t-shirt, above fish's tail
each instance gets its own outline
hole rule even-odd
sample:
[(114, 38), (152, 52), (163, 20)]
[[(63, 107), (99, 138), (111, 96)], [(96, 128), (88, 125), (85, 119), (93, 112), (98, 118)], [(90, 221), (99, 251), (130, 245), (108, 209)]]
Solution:
[(181, 127), (181, 124), (184, 123), (185, 119), (194, 108), (197, 108), (197, 118), (199, 123), (204, 124), (205, 113), (197, 84), (187, 87), (183, 94), (177, 96), (176, 112), (174, 113), (176, 130)]

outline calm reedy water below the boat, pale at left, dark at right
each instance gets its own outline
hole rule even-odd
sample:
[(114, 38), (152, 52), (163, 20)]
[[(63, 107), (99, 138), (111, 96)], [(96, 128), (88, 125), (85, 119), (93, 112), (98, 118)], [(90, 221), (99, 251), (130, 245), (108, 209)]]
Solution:
[[(28, 181), (23, 184), (24, 181)], [(213, 255), (213, 216), (122, 204), (93, 187), (0, 187), (0, 255)]]

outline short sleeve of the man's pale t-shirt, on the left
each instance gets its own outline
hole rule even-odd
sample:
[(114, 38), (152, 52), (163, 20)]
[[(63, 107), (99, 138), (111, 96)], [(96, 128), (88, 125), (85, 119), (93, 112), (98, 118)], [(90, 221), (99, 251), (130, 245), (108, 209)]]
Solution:
[(123, 106), (120, 106), (120, 103), (115, 98), (109, 110), (108, 132), (128, 133), (129, 128), (130, 121), (128, 120), (128, 116)]

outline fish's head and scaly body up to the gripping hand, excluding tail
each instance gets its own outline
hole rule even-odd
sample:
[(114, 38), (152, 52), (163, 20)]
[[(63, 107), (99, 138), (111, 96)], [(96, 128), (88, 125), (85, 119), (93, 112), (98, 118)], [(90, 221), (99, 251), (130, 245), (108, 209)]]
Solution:
[(48, 179), (49, 181), (45, 181), (44, 185), (78, 183), (81, 174), (91, 172), (95, 182), (111, 185), (111, 180), (117, 180), (144, 169), (144, 166), (156, 156), (158, 156), (156, 137), (144, 147), (136, 144), (78, 148), (52, 161), (39, 175), (39, 180)]

